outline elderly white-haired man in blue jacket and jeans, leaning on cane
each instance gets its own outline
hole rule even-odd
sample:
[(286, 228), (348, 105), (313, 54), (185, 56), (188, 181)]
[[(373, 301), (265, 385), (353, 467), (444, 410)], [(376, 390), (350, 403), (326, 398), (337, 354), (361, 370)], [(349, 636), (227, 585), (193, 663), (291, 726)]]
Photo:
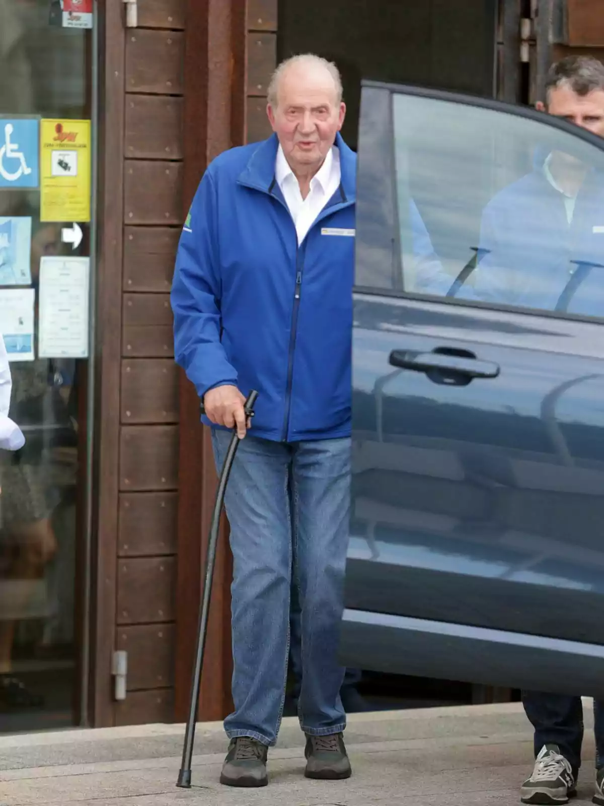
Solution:
[[(301, 605), (305, 775), (350, 776), (337, 664), (350, 509), (350, 350), (356, 156), (341, 139), (334, 64), (275, 71), (275, 134), (205, 172), (172, 285), (176, 360), (204, 402), (217, 467), (241, 438), (226, 491), (234, 713), (221, 783), (267, 783), (288, 667), (290, 585)], [(244, 402), (259, 391), (254, 422)], [(249, 431), (249, 434), (248, 434)], [(292, 576), (293, 575), (293, 576)]]

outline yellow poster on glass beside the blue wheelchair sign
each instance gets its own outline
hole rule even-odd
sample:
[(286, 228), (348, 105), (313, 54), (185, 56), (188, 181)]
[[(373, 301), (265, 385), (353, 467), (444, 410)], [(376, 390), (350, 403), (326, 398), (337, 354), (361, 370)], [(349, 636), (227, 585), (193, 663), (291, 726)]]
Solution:
[(43, 120), (40, 131), (40, 220), (90, 220), (90, 121)]

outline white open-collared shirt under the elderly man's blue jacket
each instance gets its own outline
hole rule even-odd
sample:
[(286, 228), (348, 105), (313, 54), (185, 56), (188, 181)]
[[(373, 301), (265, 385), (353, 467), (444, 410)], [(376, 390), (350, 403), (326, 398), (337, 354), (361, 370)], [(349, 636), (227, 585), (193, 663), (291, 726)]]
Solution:
[(332, 146), (327, 152), (321, 168), (310, 181), (308, 196), (303, 199), (298, 180), (294, 176), (292, 168), (289, 167), (288, 160), (285, 159), (283, 148), (279, 146), (275, 163), (275, 179), (283, 193), (289, 212), (292, 214), (299, 244), (302, 243), (308, 230), (316, 221), (316, 217), (340, 186), (340, 178), (340, 149)]

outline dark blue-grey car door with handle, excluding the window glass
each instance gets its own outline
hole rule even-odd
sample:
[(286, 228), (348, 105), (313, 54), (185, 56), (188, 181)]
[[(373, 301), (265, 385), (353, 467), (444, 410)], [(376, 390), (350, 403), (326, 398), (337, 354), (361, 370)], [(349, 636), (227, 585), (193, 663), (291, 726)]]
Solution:
[(602, 696), (602, 325), (384, 280), (393, 91), (363, 89), (342, 660)]

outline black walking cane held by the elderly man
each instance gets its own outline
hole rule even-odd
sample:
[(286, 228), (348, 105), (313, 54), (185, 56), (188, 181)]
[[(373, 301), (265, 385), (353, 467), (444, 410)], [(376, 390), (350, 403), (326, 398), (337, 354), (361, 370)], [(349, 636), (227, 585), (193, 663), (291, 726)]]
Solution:
[[(247, 396), (244, 409), (246, 417), (254, 417), (254, 403), (258, 397), (257, 392), (250, 392)], [(201, 405), (203, 411), (203, 404)], [(205, 636), (208, 632), (209, 601), (212, 596), (212, 578), (214, 573), (214, 560), (216, 559), (216, 548), (218, 543), (218, 530), (220, 528), (220, 516), (222, 503), (225, 500), (226, 484), (229, 481), (230, 468), (233, 466), (233, 459), (237, 453), (237, 448), (241, 440), (237, 431), (230, 440), (229, 450), (226, 451), (225, 462), (222, 465), (218, 488), (216, 491), (216, 501), (212, 514), (212, 523), (209, 528), (208, 555), (205, 561), (205, 583), (204, 596), (201, 601), (201, 611), (199, 614), (199, 631), (197, 634), (197, 651), (195, 653), (195, 667), (193, 669), (193, 680), (191, 687), (191, 706), (188, 712), (187, 729), (184, 733), (183, 760), (178, 774), (177, 787), (189, 789), (191, 787), (191, 762), (193, 755), (193, 742), (195, 742), (195, 724), (197, 722), (197, 707), (199, 704), (199, 688), (201, 684), (201, 670), (204, 666)]]

